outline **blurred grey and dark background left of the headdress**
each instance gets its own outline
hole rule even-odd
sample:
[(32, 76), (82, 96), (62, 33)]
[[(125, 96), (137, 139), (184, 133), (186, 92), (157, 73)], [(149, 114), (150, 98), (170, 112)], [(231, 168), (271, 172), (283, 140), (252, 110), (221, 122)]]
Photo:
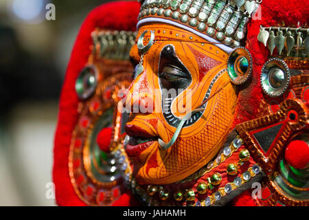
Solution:
[[(104, 2), (0, 0), (0, 206), (55, 206), (60, 89), (82, 21)], [(45, 18), (49, 3), (55, 21)]]

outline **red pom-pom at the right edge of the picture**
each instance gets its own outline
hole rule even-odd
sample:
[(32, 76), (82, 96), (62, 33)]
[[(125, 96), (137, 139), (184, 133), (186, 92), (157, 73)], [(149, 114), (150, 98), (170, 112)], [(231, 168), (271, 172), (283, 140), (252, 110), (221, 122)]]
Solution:
[(294, 140), (288, 144), (284, 157), (290, 166), (306, 168), (309, 164), (309, 146), (302, 140)]

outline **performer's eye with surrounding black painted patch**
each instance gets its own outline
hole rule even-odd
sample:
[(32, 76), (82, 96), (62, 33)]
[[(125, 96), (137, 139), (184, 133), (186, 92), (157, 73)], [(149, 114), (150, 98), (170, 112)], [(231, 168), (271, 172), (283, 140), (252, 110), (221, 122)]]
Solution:
[(186, 89), (192, 82), (187, 68), (179, 61), (172, 45), (167, 45), (161, 52), (159, 80), (165, 89)]

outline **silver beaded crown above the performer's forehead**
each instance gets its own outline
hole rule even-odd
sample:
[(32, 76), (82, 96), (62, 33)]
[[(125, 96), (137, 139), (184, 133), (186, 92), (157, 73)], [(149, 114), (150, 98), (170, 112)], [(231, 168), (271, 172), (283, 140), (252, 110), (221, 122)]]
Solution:
[(162, 19), (165, 19), (168, 23), (179, 23), (184, 28), (197, 30), (229, 47), (238, 47), (246, 36), (249, 18), (258, 10), (261, 2), (145, 0), (142, 1), (139, 22), (144, 19), (164, 22)]

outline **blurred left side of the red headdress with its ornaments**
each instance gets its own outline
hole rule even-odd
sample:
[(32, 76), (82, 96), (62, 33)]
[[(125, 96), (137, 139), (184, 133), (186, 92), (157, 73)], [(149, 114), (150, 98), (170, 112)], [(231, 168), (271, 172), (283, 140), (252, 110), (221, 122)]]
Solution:
[[(139, 3), (133, 1), (100, 5), (88, 15), (76, 39), (62, 87), (55, 136), (54, 183), (60, 206), (111, 205), (124, 192), (121, 177), (114, 175), (118, 172), (113, 166), (115, 159), (100, 155), (108, 150), (112, 137), (119, 135), (112, 132), (115, 118), (111, 109), (117, 100), (113, 93), (130, 85), (133, 69), (128, 52), (135, 43), (138, 10)], [(106, 121), (99, 123), (106, 112)], [(99, 135), (102, 126), (106, 130)], [(94, 149), (87, 148), (89, 138)], [(84, 162), (98, 151), (98, 144), (102, 148), (99, 157), (104, 160), (101, 165), (109, 168), (100, 178), (95, 173), (102, 172), (101, 165), (84, 170)], [(83, 157), (86, 151), (91, 156)]]

